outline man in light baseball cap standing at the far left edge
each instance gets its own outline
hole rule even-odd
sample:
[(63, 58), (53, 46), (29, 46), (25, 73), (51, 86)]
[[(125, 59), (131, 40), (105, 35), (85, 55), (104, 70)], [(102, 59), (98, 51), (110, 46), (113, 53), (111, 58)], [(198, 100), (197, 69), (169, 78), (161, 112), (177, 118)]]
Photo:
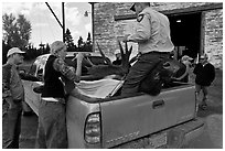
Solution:
[(17, 66), (23, 63), (22, 52), (12, 47), (2, 66), (2, 148), (19, 149), (24, 88)]

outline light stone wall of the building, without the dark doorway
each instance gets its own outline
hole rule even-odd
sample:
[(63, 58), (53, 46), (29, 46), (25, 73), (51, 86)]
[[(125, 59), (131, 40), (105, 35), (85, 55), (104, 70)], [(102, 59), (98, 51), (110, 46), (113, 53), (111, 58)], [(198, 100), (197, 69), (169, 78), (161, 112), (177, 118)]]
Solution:
[[(94, 4), (94, 39), (98, 42), (101, 50), (107, 55), (113, 55), (118, 48), (117, 37), (133, 31), (136, 20), (115, 20), (117, 15), (135, 14), (129, 10), (131, 2), (99, 2)], [(186, 12), (195, 11), (197, 8), (208, 7), (210, 2), (152, 2), (153, 8), (164, 13), (178, 13), (185, 10)], [(190, 9), (191, 8), (191, 9)], [(176, 12), (174, 10), (178, 10)], [(203, 50), (210, 55), (210, 61), (222, 68), (223, 53), (223, 9), (203, 11), (204, 46)], [(137, 45), (133, 45), (137, 50)], [(95, 46), (95, 51), (98, 51)]]

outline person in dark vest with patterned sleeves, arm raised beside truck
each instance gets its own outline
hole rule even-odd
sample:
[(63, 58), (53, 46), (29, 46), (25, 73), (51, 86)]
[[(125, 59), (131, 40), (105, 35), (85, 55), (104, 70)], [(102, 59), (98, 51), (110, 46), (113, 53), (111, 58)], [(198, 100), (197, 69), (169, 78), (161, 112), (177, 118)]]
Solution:
[(55, 41), (51, 45), (44, 72), (44, 87), (39, 107), (36, 147), (39, 149), (66, 149), (66, 94), (63, 78), (79, 82), (83, 55), (77, 55), (76, 69), (65, 64), (66, 45)]

